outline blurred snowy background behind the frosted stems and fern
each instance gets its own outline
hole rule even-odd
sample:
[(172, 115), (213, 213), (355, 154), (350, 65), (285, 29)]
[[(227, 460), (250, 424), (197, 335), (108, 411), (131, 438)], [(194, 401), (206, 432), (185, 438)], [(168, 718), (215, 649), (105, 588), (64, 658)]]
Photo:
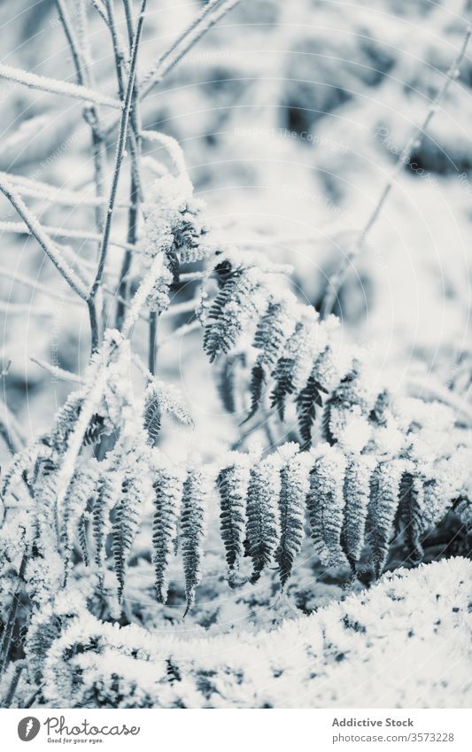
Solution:
[[(159, 58), (198, 6), (150, 3), (141, 69)], [(471, 11), (464, 0), (243, 0), (152, 89), (143, 126), (178, 139), (197, 195), (227, 236), (293, 265), (300, 297), (319, 306), (329, 274), (349, 252), (442, 85)], [(125, 36), (125, 21), (120, 15), (118, 21)], [(89, 23), (94, 76), (114, 93), (107, 32), (97, 13), (89, 13)], [(4, 63), (74, 81), (52, 0), (1, 4), (0, 29)], [(80, 103), (10, 81), (0, 81), (0, 101), (1, 170), (93, 192)], [(398, 380), (432, 370), (446, 384), (468, 381), (471, 121), (469, 51), (429, 136), (396, 179), (335, 309), (346, 336), (366, 345), (379, 368)], [(164, 154), (159, 146), (146, 148)], [(111, 161), (113, 151), (111, 137)], [(152, 178), (150, 170), (145, 180)], [(77, 230), (66, 242), (83, 259), (93, 257), (83, 236), (84, 228), (93, 229), (92, 209), (57, 206), (41, 195), (30, 200), (45, 225)], [(18, 217), (4, 199), (0, 221), (4, 367), (11, 361), (3, 397), (25, 433), (36, 436), (50, 425), (68, 384), (30, 359), (80, 374), (89, 354), (88, 317), (35, 241), (5, 225)], [(116, 214), (113, 236), (126, 236), (124, 211)], [(112, 253), (118, 271), (122, 250), (115, 246)], [(22, 275), (37, 281), (35, 289)], [(178, 299), (194, 293), (188, 285)], [(183, 322), (176, 317), (166, 326)], [(211, 459), (223, 436), (237, 436), (212, 385), (199, 331), (162, 346), (159, 376), (177, 382), (190, 402), (197, 429), (185, 439), (186, 451), (193, 445)], [(166, 442), (176, 451), (182, 433), (173, 430)], [(211, 567), (211, 556), (208, 562)], [(139, 566), (136, 572), (139, 579)], [(312, 583), (310, 598), (313, 593)]]

